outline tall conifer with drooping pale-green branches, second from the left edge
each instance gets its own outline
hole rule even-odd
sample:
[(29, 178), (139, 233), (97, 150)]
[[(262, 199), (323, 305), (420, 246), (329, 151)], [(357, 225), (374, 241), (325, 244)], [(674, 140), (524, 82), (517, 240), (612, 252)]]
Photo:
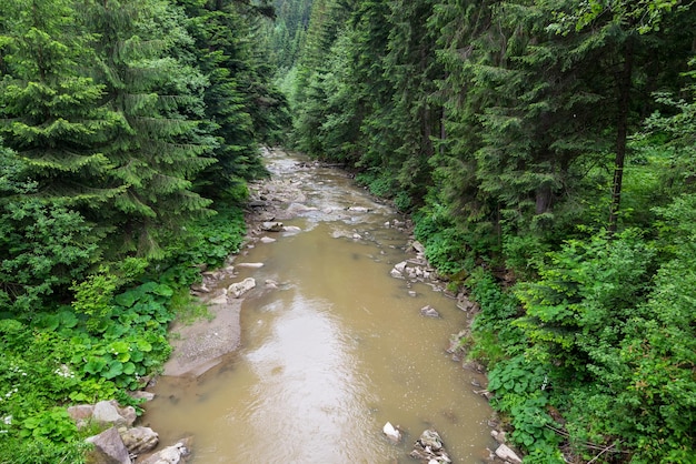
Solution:
[(83, 18), (99, 36), (105, 104), (120, 117), (103, 153), (127, 189), (102, 215), (122, 233), (120, 252), (163, 258), (160, 241), (211, 203), (192, 191), (196, 175), (215, 162), (203, 157), (212, 141), (199, 124), (207, 81), (168, 56), (190, 41), (183, 17), (168, 3), (93, 1)]

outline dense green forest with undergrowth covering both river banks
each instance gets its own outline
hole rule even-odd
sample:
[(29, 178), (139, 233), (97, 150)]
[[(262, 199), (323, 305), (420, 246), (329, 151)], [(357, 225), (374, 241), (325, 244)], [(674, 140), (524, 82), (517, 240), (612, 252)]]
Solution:
[(690, 463), (688, 0), (12, 0), (0, 9), (0, 463), (143, 386), (240, 246), (261, 144), (409, 214), (525, 463)]

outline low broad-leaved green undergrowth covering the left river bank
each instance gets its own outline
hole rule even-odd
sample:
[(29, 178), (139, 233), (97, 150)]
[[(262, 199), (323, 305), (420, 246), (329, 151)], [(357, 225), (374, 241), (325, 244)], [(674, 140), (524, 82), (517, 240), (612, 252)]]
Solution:
[(67, 405), (116, 399), (138, 407), (127, 392), (167, 360), (169, 323), (205, 311), (189, 285), (202, 265), (239, 249), (243, 213), (221, 206), (188, 230), (169, 244), (167, 260), (102, 265), (72, 282), (72, 301), (58, 304), (49, 293), (32, 301), (41, 311), (2, 314), (0, 463), (80, 463), (83, 438), (97, 430), (78, 431)]

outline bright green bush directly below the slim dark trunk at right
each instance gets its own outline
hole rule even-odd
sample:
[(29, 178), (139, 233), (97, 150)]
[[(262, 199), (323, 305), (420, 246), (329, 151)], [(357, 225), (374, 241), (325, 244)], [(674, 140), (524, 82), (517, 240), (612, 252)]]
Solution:
[(583, 376), (616, 370), (606, 354), (623, 340), (623, 327), (639, 315), (654, 252), (635, 231), (588, 242), (569, 241), (549, 253), (539, 281), (521, 283), (517, 295), (526, 316), (517, 324), (541, 362), (554, 360)]

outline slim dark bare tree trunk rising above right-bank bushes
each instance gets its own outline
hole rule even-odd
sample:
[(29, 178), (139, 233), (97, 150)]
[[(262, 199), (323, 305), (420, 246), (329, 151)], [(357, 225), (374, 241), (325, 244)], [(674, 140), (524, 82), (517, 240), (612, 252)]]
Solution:
[(614, 182), (612, 185), (612, 206), (609, 210), (609, 233), (616, 232), (618, 212), (622, 204), (622, 184), (624, 182), (624, 163), (626, 161), (626, 138), (628, 134), (628, 109), (633, 77), (633, 38), (628, 37), (624, 46), (624, 68), (618, 78), (618, 119), (616, 122), (616, 158), (614, 161)]

